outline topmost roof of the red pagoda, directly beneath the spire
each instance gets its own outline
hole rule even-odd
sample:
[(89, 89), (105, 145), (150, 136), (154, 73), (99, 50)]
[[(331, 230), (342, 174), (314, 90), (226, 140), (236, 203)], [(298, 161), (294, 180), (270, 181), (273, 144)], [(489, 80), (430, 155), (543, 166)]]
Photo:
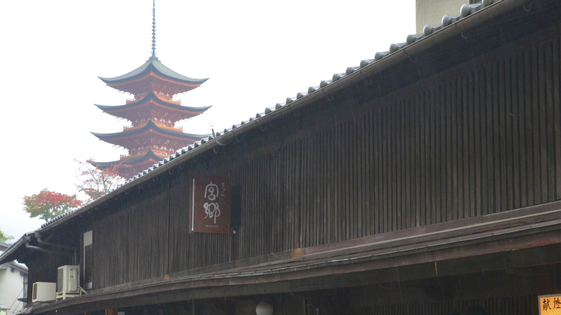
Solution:
[(151, 81), (162, 81), (172, 86), (172, 92), (182, 93), (195, 89), (203, 84), (208, 78), (190, 78), (177, 73), (164, 66), (157, 58), (150, 58), (142, 66), (135, 70), (125, 73), (122, 76), (105, 78), (99, 77), (105, 84), (125, 92), (139, 94), (140, 87), (151, 86)]

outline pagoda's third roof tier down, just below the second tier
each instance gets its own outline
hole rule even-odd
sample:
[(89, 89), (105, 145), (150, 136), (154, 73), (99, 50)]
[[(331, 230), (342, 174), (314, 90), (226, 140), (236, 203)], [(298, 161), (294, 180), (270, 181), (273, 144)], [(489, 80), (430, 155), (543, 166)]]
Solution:
[[(121, 132), (113, 133), (97, 133), (91, 132), (92, 135), (108, 143), (114, 145), (127, 147), (130, 145), (134, 138), (139, 140), (146, 140), (150, 138), (150, 133), (153, 136), (159, 136), (170, 140), (183, 140), (195, 142), (201, 140), (202, 138), (208, 137), (209, 135), (194, 135), (192, 133), (185, 133), (175, 130), (175, 128), (168, 128), (164, 126), (158, 126), (153, 121), (148, 121), (144, 126), (133, 127), (125, 129)], [(128, 148), (127, 148), (128, 149)]]

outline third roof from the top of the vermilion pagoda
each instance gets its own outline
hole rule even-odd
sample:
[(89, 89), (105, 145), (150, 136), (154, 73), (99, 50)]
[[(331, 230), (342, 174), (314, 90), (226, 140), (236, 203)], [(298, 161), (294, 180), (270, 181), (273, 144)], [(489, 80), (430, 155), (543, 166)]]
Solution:
[(92, 135), (99, 138), (99, 140), (103, 140), (105, 142), (113, 143), (114, 145), (123, 146), (121, 144), (122, 140), (126, 140), (127, 138), (131, 138), (132, 136), (140, 136), (142, 133), (148, 132), (155, 132), (156, 134), (167, 136), (167, 137), (175, 137), (185, 140), (197, 141), (201, 140), (201, 138), (208, 137), (209, 135), (194, 135), (192, 133), (185, 133), (181, 131), (176, 131), (170, 128), (166, 128), (163, 126), (158, 126), (153, 121), (148, 121), (142, 127), (130, 128), (125, 129), (121, 132), (113, 132), (113, 133), (97, 133), (91, 132)]

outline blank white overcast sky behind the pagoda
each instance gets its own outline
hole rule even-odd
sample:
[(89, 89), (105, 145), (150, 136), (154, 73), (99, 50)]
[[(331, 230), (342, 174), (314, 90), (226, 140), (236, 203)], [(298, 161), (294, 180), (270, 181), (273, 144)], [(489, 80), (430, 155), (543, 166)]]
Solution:
[[(117, 160), (125, 151), (90, 131), (128, 124), (93, 104), (128, 94), (97, 76), (134, 70), (150, 57), (151, 0), (2, 3), (0, 89), (3, 163), (0, 229), (19, 238), (44, 222), (22, 211), (42, 188), (76, 193), (73, 158)], [(172, 70), (210, 77), (179, 95), (213, 108), (183, 131), (221, 130), (374, 58), (415, 33), (415, 0), (156, 2), (157, 56)]]

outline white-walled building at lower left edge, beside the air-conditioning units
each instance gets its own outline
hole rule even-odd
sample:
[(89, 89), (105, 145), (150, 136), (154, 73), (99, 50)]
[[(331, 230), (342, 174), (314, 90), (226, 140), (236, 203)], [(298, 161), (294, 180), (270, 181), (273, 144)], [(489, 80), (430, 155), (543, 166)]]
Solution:
[[(12, 307), (8, 314), (19, 311), (24, 307), (24, 302), (16, 300), (24, 296), (23, 288), (24, 276), (20, 275), (19, 270), (11, 271), (9, 266), (0, 266), (0, 304), (5, 307)], [(16, 302), (14, 303), (14, 301)]]

